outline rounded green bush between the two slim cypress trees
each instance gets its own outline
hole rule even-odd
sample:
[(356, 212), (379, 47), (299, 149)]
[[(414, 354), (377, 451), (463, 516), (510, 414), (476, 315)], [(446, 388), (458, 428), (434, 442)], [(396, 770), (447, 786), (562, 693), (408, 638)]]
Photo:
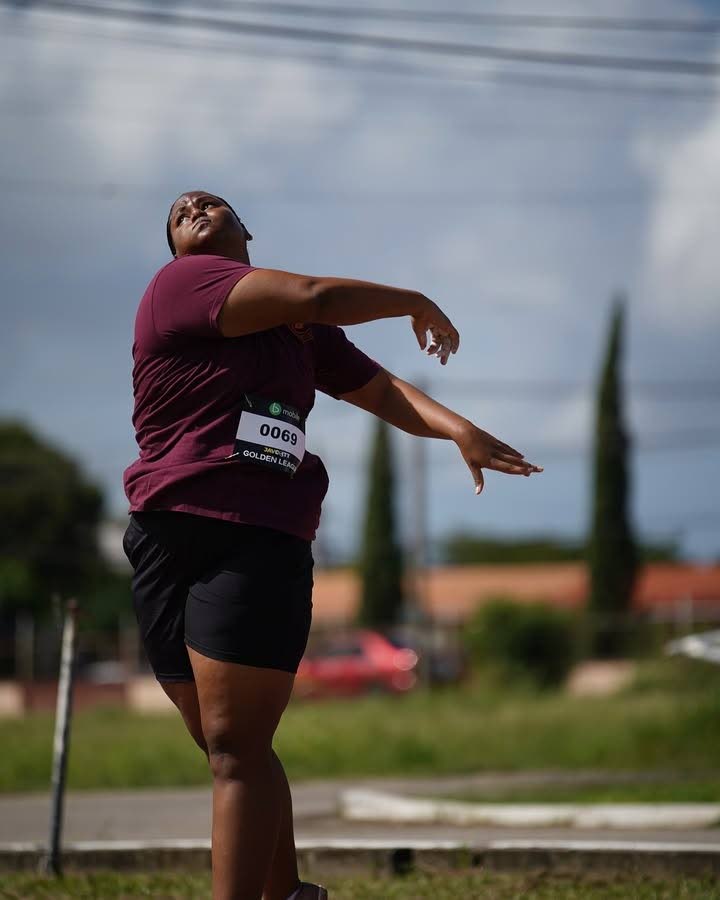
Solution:
[(465, 637), (475, 663), (499, 666), (539, 687), (561, 684), (576, 656), (574, 618), (542, 603), (490, 601), (470, 619)]

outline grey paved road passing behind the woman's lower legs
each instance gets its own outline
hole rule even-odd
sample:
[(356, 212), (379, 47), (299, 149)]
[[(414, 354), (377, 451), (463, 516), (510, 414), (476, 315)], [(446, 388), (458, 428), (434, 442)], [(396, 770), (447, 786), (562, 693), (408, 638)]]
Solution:
[[(717, 844), (720, 829), (568, 829), (568, 828), (491, 828), (452, 825), (382, 825), (346, 822), (337, 816), (340, 791), (349, 787), (377, 788), (415, 796), (452, 794), (463, 789), (502, 787), (510, 784), (536, 784), (553, 781), (593, 780), (582, 776), (546, 776), (534, 773), (496, 776), (483, 775), (434, 779), (353, 779), (314, 781), (293, 786), (296, 836), (299, 839), (322, 840), (372, 837), (397, 840), (408, 838), (448, 839), (483, 843), (496, 839), (557, 838), (587, 840), (631, 840), (690, 842)], [(603, 774), (597, 780), (608, 781)], [(616, 780), (637, 775), (614, 776)], [(14, 794), (0, 796), (0, 843), (11, 841), (45, 841), (47, 839), (50, 802), (46, 794)], [(210, 834), (209, 789), (168, 789), (145, 791), (72, 792), (66, 799), (64, 839), (85, 840), (153, 840), (165, 838), (207, 838)]]

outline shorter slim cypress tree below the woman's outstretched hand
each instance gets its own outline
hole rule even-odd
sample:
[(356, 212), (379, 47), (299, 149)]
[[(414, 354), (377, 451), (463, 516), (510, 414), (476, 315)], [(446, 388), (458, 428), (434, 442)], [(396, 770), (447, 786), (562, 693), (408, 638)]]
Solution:
[(400, 620), (402, 551), (396, 536), (395, 478), (390, 429), (377, 420), (368, 466), (368, 493), (360, 554), (362, 601), (359, 623), (383, 627)]

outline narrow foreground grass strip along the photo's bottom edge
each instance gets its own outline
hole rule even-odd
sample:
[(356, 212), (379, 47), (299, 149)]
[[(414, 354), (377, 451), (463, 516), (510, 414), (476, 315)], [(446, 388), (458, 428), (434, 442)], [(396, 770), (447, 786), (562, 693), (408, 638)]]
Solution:
[[(717, 879), (651, 879), (632, 875), (570, 878), (543, 873), (496, 874), (479, 870), (415, 873), (403, 877), (353, 876), (324, 882), (332, 900), (712, 900)], [(186, 900), (210, 895), (208, 875), (69, 875), (60, 882), (36, 875), (3, 879), (4, 900)]]

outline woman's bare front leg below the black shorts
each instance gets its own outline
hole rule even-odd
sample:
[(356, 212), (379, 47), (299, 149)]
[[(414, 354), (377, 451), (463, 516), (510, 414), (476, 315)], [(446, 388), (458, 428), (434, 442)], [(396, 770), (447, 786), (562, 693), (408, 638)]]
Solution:
[[(280, 833), (282, 783), (272, 739), (294, 676), (220, 662), (189, 649), (213, 774), (213, 900), (260, 900)], [(298, 886), (296, 874), (272, 900)]]

